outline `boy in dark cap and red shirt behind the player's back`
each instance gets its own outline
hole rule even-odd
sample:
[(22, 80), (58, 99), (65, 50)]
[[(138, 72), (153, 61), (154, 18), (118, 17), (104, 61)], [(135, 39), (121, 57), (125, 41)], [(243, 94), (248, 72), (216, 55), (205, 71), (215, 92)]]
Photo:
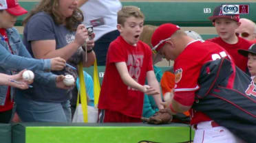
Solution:
[(239, 15), (222, 14), (222, 5), (220, 5), (215, 8), (213, 16), (210, 16), (209, 19), (213, 22), (217, 34), (220, 36), (209, 39), (209, 41), (215, 42), (226, 49), (234, 60), (235, 65), (246, 72), (248, 58), (240, 55), (237, 50), (247, 50), (251, 43), (235, 34), (235, 30), (241, 25)]

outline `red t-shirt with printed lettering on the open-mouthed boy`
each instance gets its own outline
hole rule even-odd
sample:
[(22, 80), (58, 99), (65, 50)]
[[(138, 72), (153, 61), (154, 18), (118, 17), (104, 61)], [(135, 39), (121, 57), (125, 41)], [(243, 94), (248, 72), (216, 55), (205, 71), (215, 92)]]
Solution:
[(125, 62), (129, 75), (141, 85), (145, 84), (147, 71), (153, 70), (151, 49), (139, 41), (128, 44), (122, 36), (111, 42), (107, 51), (107, 63), (100, 90), (99, 109), (111, 109), (127, 116), (140, 118), (144, 93), (122, 82), (116, 62)]

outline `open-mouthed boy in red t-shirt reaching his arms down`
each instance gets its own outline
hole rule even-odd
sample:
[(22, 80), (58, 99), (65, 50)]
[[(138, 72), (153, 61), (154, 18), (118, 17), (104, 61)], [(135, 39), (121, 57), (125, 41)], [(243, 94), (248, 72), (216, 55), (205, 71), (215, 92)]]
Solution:
[[(120, 36), (109, 45), (100, 90), (100, 122), (141, 122), (144, 94), (153, 95), (159, 109), (160, 86), (153, 72), (150, 47), (139, 40), (144, 15), (135, 6), (118, 12)], [(145, 81), (149, 85), (145, 85)]]

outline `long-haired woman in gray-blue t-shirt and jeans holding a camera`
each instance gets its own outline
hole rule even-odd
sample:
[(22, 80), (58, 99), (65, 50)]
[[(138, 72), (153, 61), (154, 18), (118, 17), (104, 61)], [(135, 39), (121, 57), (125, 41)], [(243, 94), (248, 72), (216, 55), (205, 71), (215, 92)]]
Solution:
[[(41, 0), (23, 21), (23, 43), (35, 58), (62, 57), (74, 66), (94, 64), (94, 40), (89, 40), (78, 1)], [(94, 34), (92, 35), (94, 38)], [(85, 44), (86, 42), (86, 44)], [(77, 70), (67, 66), (56, 75), (73, 75)], [(17, 112), (24, 122), (71, 122), (71, 90), (33, 83), (34, 88), (20, 90)]]

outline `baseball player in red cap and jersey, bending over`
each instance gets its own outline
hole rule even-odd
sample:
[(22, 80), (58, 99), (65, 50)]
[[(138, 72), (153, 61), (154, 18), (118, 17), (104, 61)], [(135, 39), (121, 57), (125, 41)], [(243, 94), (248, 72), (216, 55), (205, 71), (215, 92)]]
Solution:
[[(213, 42), (194, 40), (184, 31), (171, 23), (163, 24), (152, 36), (153, 50), (167, 60), (174, 60), (175, 89), (174, 96), (168, 103), (171, 114), (186, 112), (190, 109), (191, 125), (195, 129), (194, 143), (199, 142), (241, 142), (225, 127), (202, 112), (191, 109), (195, 101), (195, 92), (200, 89), (198, 78), (204, 63), (223, 58), (229, 59), (225, 49)], [(233, 64), (233, 61), (231, 60)], [(235, 69), (234, 69), (235, 70)]]

